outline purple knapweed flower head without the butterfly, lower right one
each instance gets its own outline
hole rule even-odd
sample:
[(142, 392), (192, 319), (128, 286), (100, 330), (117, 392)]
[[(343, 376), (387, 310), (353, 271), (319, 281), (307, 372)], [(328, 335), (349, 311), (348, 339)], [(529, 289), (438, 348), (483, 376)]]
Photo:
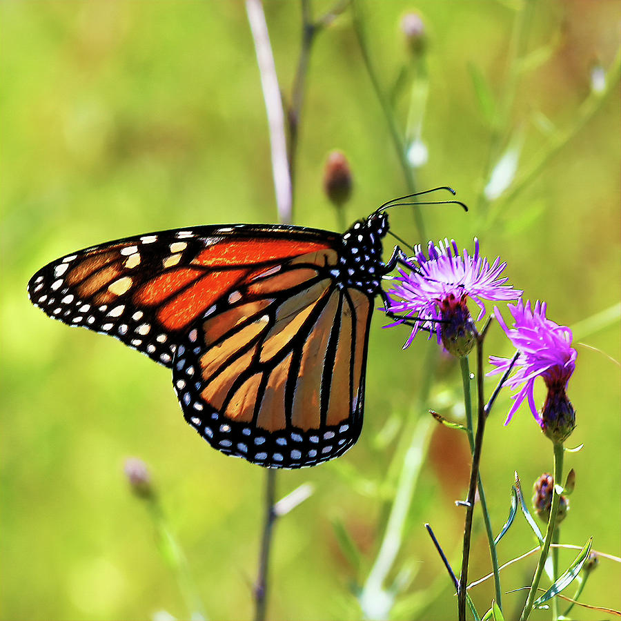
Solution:
[[(527, 398), (531, 412), (544, 433), (553, 442), (563, 442), (575, 427), (575, 411), (566, 395), (577, 355), (571, 346), (571, 330), (546, 318), (545, 302), (535, 302), (535, 307), (531, 308), (531, 302), (526, 302), (524, 306), (520, 299), (517, 304), (509, 304), (509, 311), (513, 315), (511, 328), (504, 323), (498, 308), (494, 308), (498, 323), (519, 353), (514, 367), (517, 371), (506, 380), (506, 385), (520, 390), (512, 397), (513, 406), (504, 424), (509, 423)], [(506, 372), (511, 359), (490, 356), (489, 362), (496, 368), (488, 375), (497, 375)], [(548, 388), (541, 413), (535, 406), (533, 393), (538, 377), (542, 377)]]

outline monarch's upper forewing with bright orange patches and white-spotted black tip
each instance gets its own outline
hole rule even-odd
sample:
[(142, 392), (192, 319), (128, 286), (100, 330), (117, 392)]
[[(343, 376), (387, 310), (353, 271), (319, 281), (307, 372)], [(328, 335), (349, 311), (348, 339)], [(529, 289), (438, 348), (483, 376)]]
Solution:
[(28, 295), (54, 319), (120, 339), (172, 366), (188, 326), (258, 271), (334, 252), (338, 235), (293, 226), (199, 226), (80, 250), (30, 279)]

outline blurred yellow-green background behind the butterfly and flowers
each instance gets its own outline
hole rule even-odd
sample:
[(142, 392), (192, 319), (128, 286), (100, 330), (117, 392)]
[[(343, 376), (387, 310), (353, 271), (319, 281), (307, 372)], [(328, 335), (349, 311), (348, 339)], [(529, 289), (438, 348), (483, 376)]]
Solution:
[[(317, 15), (331, 6), (313, 3)], [(578, 482), (562, 541), (582, 545), (594, 535), (594, 549), (618, 555), (620, 382), (618, 362), (607, 357), (620, 357), (618, 311), (611, 321), (579, 322), (619, 301), (618, 84), (611, 95), (597, 92), (598, 68), (608, 71), (618, 54), (621, 6), (422, 0), (360, 8), (384, 92), (403, 70), (394, 99), (401, 128), (413, 85), (415, 103), (428, 93), (424, 117), (413, 112), (428, 150), (426, 163), (413, 170), (417, 188), (450, 184), (471, 206), (468, 215), (422, 208), (427, 235), (454, 237), (469, 249), (477, 235), (482, 253), (502, 255), (506, 275), (526, 297), (546, 299), (549, 317), (580, 328), (576, 340), (588, 347), (578, 345), (569, 387), (578, 412), (569, 445), (584, 448), (566, 457)], [(299, 3), (267, 1), (265, 10), (288, 98), (300, 46)], [(408, 10), (420, 13), (426, 32), (418, 56), (408, 52), (400, 30)], [(250, 618), (264, 471), (213, 451), (184, 423), (164, 368), (113, 339), (51, 322), (26, 297), (30, 275), (77, 248), (193, 224), (276, 221), (244, 3), (4, 0), (0, 17), (1, 618), (108, 620), (152, 618), (157, 611), (188, 617), (150, 515), (125, 480), (130, 455), (152, 472), (206, 614)], [(511, 33), (520, 19), (518, 66)], [(509, 102), (506, 115), (494, 113), (502, 110), (499, 101)], [(482, 199), (507, 147), (513, 155), (521, 148), (517, 183), (555, 140), (558, 148), (535, 166), (520, 193), (507, 200), (510, 187), (496, 200)], [(333, 148), (344, 150), (353, 170), (347, 221), (406, 193), (349, 10), (318, 35), (311, 55), (296, 224), (339, 226), (322, 192)], [(426, 241), (417, 238), (408, 210), (391, 213), (391, 226), (411, 243)], [(379, 315), (373, 322), (365, 426), (355, 448), (314, 469), (279, 473), (279, 495), (304, 482), (315, 493), (277, 524), (270, 618), (361, 616), (351, 589), (364, 582), (377, 554), (395, 493), (391, 457), (408, 422), (424, 415), (415, 411), (416, 397), (434, 346), (417, 339), (402, 351), (406, 328), (382, 331), (384, 323)], [(486, 349), (512, 353), (497, 326)], [(459, 387), (458, 366), (443, 361), (431, 406), (459, 420)], [(551, 443), (526, 408), (502, 426), (508, 407), (503, 395), (482, 461), (496, 531), (508, 511), (513, 471), (530, 496), (535, 478), (551, 469)], [(391, 573), (410, 572), (401, 574), (393, 618), (456, 616), (451, 585), (422, 524), (431, 522), (457, 566), (463, 509), (454, 500), (466, 493), (468, 471), (465, 437), (437, 428)], [(339, 546), (335, 523), (359, 550), (354, 563)], [(499, 546), (500, 560), (533, 546), (526, 523), (517, 520)], [(562, 552), (561, 564), (573, 556)], [(505, 589), (528, 584), (534, 564), (530, 558), (507, 570)], [(470, 575), (488, 571), (477, 520)], [(582, 599), (620, 609), (620, 573), (618, 564), (602, 560)], [(473, 591), (480, 612), (492, 596), (491, 581)], [(505, 595), (509, 616), (522, 598)]]

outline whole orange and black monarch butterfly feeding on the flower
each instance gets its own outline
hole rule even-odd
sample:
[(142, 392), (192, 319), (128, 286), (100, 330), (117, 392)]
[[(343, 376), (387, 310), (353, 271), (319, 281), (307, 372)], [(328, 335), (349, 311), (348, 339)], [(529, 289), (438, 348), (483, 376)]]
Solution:
[(406, 198), (344, 235), (235, 224), (118, 239), (41, 268), (28, 295), (172, 368), (186, 421), (215, 449), (314, 466), (362, 429), (373, 301), (386, 306), (380, 281), (404, 261), (398, 246), (382, 261), (384, 210)]

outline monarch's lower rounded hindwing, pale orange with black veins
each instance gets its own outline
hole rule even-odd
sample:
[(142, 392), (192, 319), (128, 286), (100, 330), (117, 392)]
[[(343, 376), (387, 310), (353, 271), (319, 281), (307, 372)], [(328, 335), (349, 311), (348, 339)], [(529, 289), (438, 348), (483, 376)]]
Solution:
[(177, 347), (184, 416), (219, 451), (298, 468), (356, 442), (372, 300), (336, 264), (327, 250), (257, 271)]

